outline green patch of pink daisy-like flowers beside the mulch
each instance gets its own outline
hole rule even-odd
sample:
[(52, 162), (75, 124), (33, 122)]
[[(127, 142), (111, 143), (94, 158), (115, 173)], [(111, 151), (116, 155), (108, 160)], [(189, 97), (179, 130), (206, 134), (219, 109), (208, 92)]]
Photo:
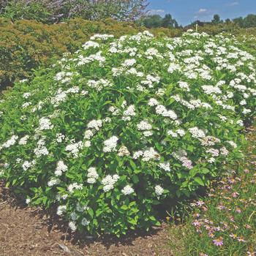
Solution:
[(252, 129), (244, 159), (227, 165), (208, 196), (192, 203), (184, 225), (170, 228), (174, 255), (255, 255), (255, 138)]

